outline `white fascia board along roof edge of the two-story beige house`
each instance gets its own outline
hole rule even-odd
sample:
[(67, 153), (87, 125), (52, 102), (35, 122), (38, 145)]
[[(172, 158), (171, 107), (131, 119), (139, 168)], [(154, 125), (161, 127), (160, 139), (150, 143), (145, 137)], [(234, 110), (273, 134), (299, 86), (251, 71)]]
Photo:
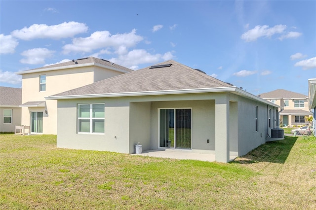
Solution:
[(87, 63), (87, 64), (74, 64), (71, 66), (61, 66), (61, 67), (53, 67), (53, 68), (46, 68), (46, 69), (36, 69), (36, 70), (25, 70), (25, 71), (18, 71), (15, 72), (16, 74), (26, 74), (26, 73), (36, 73), (36, 72), (44, 72), (44, 71), (51, 71), (51, 70), (65, 70), (65, 69), (73, 69), (73, 68), (78, 68), (78, 67), (89, 67), (89, 66), (97, 66), (97, 67), (101, 67), (101, 68), (107, 68), (110, 70), (115, 70), (115, 71), (119, 71), (119, 72), (124, 72), (127, 73), (129, 71), (126, 70), (120, 70), (114, 67), (109, 67), (109, 66), (105, 66), (102, 64), (98, 64), (98, 63)]

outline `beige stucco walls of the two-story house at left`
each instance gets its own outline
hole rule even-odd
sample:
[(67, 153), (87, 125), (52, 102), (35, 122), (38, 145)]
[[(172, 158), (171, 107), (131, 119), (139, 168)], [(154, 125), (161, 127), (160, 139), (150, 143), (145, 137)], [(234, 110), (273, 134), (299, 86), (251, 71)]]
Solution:
[[(40, 75), (46, 75), (46, 91), (40, 91)], [(66, 70), (53, 70), (23, 74), (22, 104), (29, 101), (46, 101), (46, 107), (22, 107), (21, 123), (31, 124), (31, 111), (43, 113), (43, 134), (57, 134), (57, 101), (44, 97), (91, 84), (102, 79), (122, 74), (114, 70), (89, 66)]]

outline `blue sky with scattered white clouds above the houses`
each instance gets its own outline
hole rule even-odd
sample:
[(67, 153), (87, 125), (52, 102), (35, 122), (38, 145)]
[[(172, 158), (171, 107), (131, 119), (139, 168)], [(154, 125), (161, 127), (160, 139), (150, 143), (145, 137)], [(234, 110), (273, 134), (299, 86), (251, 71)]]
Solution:
[(89, 56), (134, 70), (172, 59), (255, 95), (307, 95), (316, 1), (0, 1), (1, 86)]

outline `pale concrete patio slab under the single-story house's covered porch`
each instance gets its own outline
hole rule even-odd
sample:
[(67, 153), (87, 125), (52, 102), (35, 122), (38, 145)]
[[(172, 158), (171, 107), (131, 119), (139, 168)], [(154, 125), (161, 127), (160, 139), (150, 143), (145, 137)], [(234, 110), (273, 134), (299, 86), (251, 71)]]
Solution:
[[(188, 150), (176, 150), (176, 149), (166, 149), (166, 150), (146, 150), (141, 154), (132, 154), (140, 156), (150, 156), (158, 158), (171, 158), (171, 159), (180, 159), (180, 160), (200, 160), (200, 161), (209, 161), (215, 162), (214, 154), (200, 154), (193, 153)], [(237, 156), (230, 156), (230, 161), (233, 161)]]

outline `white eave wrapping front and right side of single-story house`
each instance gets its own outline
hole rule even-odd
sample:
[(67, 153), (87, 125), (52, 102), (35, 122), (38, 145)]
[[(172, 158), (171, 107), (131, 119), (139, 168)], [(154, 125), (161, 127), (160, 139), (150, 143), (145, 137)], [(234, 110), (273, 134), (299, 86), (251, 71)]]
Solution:
[(216, 92), (232, 92), (237, 95), (260, 101), (278, 108), (279, 105), (268, 102), (236, 86), (218, 87), (218, 88), (201, 88), (201, 89), (185, 89), (185, 90), (164, 90), (164, 91), (143, 91), (143, 92), (126, 92), (126, 93), (109, 93), (109, 94), (88, 94), (88, 95), (71, 95), (71, 96), (48, 96), (47, 100), (63, 100), (63, 99), (86, 99), (86, 98), (109, 98), (109, 97), (131, 97), (131, 96), (155, 96), (155, 95), (171, 95), (171, 94), (194, 94), (194, 93), (216, 93)]

